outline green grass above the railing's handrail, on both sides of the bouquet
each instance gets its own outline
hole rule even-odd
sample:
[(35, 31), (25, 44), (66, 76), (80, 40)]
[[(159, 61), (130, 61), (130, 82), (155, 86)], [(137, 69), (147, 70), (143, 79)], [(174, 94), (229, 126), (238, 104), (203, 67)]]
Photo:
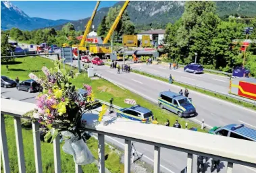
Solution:
[[(53, 61), (49, 59), (44, 59), (42, 57), (36, 57), (34, 59), (31, 59), (30, 57), (26, 57), (22, 59), (16, 59), (16, 62), (20, 62), (20, 63), (9, 65), (9, 71), (7, 71), (7, 69), (5, 68), (5, 65), (1, 65), (1, 74), (7, 75), (12, 79), (15, 79), (15, 77), (18, 76), (20, 77), (20, 80), (24, 80), (24, 79), (28, 79), (28, 74), (30, 72), (34, 73), (33, 71), (36, 71), (34, 73), (36, 75), (43, 75), (43, 72), (41, 71), (41, 68), (43, 66), (46, 66), (48, 68), (53, 67)], [(66, 65), (66, 69), (70, 69), (70, 68), (71, 68), (70, 66)], [(11, 69), (15, 69), (15, 71)], [(23, 69), (23, 70), (18, 71), (18, 69)], [(74, 69), (74, 72), (76, 73), (77, 69)], [(155, 117), (157, 117), (157, 120), (159, 121), (160, 125), (163, 125), (167, 119), (170, 120), (170, 123), (172, 125), (175, 123), (175, 120), (177, 119), (179, 120), (182, 127), (185, 127), (185, 123), (188, 123), (188, 128), (196, 127), (199, 129), (199, 131), (203, 131), (203, 132), (206, 131), (206, 130), (201, 130), (200, 125), (198, 125), (197, 123), (194, 123), (185, 118), (179, 118), (176, 114), (173, 114), (168, 110), (159, 108), (159, 106), (157, 106), (156, 104), (153, 104), (148, 100), (145, 100), (145, 98), (138, 96), (137, 94), (134, 94), (129, 90), (122, 90), (118, 86), (113, 85), (113, 83), (110, 83), (105, 79), (93, 80), (88, 78), (86, 73), (82, 73), (78, 75), (78, 77), (76, 77), (76, 79), (74, 79), (72, 82), (76, 85), (77, 88), (82, 88), (83, 83), (87, 83), (91, 85), (93, 87), (93, 91), (95, 92), (95, 96), (97, 98), (101, 100), (105, 100), (107, 102), (111, 98), (113, 98), (114, 99), (113, 104), (116, 104), (117, 106), (120, 106), (120, 107), (130, 106), (124, 103), (124, 100), (126, 98), (134, 99), (141, 106), (144, 106), (152, 110)]]

